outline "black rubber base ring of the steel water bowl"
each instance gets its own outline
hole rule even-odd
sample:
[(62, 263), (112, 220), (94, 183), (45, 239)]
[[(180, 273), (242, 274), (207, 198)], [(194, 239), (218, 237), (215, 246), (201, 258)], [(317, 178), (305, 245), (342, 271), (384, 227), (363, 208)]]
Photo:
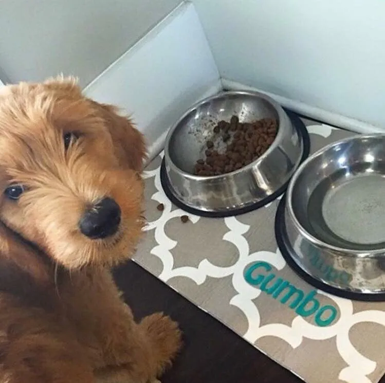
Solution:
[(291, 254), (295, 253), (295, 250), (290, 246), (285, 225), (285, 205), (286, 194), (281, 198), (277, 208), (276, 218), (274, 220), (274, 234), (278, 247), (281, 251), (282, 257), (285, 259), (288, 266), (305, 282), (309, 285), (325, 291), (325, 293), (335, 295), (337, 297), (351, 299), (354, 301), (363, 302), (382, 302), (385, 301), (385, 293), (357, 293), (356, 291), (349, 291), (339, 289), (337, 287), (330, 286), (319, 279), (311, 277), (306, 271), (304, 271), (297, 263)]

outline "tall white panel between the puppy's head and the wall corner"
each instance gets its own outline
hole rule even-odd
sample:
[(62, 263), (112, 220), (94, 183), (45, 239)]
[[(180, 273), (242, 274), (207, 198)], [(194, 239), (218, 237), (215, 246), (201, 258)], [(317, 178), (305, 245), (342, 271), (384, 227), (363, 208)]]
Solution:
[(144, 133), (149, 160), (169, 127), (196, 101), (221, 89), (199, 17), (184, 2), (91, 82), (84, 92), (118, 105)]

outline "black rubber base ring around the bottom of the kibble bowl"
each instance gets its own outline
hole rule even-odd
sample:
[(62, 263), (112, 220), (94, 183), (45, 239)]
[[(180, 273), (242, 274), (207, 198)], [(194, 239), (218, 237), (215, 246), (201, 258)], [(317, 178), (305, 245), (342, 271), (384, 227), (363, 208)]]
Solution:
[[(294, 113), (289, 110), (286, 110), (284, 108), (287, 116), (291, 120), (291, 123), (295, 126), (298, 136), (300, 139), (302, 139), (303, 144), (303, 152), (302, 157), (300, 160), (300, 164), (309, 156), (310, 153), (310, 137), (309, 132), (306, 129), (305, 124), (302, 122), (302, 120)], [(276, 190), (273, 194), (269, 195), (268, 197), (260, 200), (259, 202), (256, 202), (255, 204), (251, 204), (239, 209), (234, 210), (225, 210), (225, 211), (204, 211), (199, 210), (193, 207), (190, 207), (188, 205), (185, 205), (182, 203), (178, 198), (174, 196), (172, 193), (172, 187), (169, 183), (169, 179), (167, 177), (166, 172), (166, 165), (164, 163), (164, 158), (162, 160), (161, 166), (160, 166), (160, 183), (163, 188), (164, 193), (167, 195), (167, 197), (170, 199), (170, 201), (177, 206), (179, 209), (186, 211), (187, 213), (198, 215), (201, 217), (209, 217), (209, 218), (223, 218), (223, 217), (229, 217), (229, 216), (235, 216), (240, 214), (245, 214), (250, 211), (254, 211), (257, 209), (262, 208), (263, 206), (269, 204), (274, 199), (277, 199), (281, 194), (283, 194), (287, 186), (290, 182), (290, 179), (286, 181), (285, 184), (283, 184), (278, 190)]]

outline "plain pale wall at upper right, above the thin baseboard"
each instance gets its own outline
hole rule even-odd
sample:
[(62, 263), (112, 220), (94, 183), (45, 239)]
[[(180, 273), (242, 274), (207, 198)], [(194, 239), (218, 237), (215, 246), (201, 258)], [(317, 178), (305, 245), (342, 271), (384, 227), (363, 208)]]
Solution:
[(383, 0), (194, 0), (221, 77), (385, 129)]

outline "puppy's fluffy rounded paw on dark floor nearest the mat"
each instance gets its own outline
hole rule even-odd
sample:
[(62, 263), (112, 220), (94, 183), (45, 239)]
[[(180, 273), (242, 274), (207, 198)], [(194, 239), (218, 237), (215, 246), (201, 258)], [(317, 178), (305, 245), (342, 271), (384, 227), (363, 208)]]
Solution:
[(182, 346), (182, 333), (178, 324), (163, 313), (145, 317), (140, 322), (142, 329), (148, 334), (154, 346), (158, 373), (162, 373), (171, 364)]

